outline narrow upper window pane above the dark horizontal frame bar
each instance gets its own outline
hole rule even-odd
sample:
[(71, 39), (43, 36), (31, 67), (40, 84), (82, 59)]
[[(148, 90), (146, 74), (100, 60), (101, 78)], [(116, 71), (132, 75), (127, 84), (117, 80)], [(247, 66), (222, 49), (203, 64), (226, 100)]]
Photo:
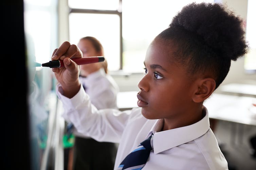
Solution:
[(119, 0), (69, 0), (70, 8), (117, 10)]

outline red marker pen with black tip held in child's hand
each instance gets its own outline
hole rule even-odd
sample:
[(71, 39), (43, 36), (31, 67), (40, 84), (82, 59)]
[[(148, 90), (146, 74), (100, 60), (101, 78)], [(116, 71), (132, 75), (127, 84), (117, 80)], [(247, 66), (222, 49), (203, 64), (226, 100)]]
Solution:
[[(82, 58), (70, 58), (72, 59), (77, 65), (83, 64), (91, 64), (91, 63), (98, 63), (103, 62), (105, 58), (103, 56), (96, 56), (96, 57), (82, 57)], [(52, 60), (48, 63), (43, 63), (43, 67), (50, 67), (50, 68), (60, 68), (64, 67), (63, 60)]]

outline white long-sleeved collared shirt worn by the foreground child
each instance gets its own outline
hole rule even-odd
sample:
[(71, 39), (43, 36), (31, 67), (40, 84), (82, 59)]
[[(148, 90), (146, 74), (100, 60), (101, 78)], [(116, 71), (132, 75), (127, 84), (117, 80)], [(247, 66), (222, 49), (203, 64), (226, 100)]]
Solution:
[(71, 121), (79, 132), (98, 141), (120, 143), (114, 170), (140, 142), (153, 132), (153, 150), (143, 170), (227, 170), (227, 161), (220, 151), (205, 117), (189, 126), (160, 131), (163, 120), (148, 120), (141, 108), (130, 111), (97, 110), (81, 86), (71, 99), (57, 95), (63, 103), (63, 118)]

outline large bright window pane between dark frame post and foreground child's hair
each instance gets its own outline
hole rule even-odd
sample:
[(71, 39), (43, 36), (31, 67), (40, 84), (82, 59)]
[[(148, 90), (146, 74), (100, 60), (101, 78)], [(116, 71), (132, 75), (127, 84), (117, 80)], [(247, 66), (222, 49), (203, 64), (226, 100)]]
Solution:
[[(172, 17), (184, 5), (193, 1), (123, 0), (122, 2), (123, 69), (127, 72), (143, 72), (143, 61), (151, 41), (168, 27)], [(213, 2), (213, 0), (205, 2)]]

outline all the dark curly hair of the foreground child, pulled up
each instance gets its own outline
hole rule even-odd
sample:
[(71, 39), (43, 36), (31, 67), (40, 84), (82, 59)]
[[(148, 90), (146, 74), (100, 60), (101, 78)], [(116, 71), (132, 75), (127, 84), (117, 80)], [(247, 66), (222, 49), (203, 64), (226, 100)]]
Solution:
[(242, 19), (219, 3), (184, 6), (157, 38), (175, 45), (175, 59), (188, 74), (210, 73), (216, 88), (225, 79), (231, 60), (248, 51)]

